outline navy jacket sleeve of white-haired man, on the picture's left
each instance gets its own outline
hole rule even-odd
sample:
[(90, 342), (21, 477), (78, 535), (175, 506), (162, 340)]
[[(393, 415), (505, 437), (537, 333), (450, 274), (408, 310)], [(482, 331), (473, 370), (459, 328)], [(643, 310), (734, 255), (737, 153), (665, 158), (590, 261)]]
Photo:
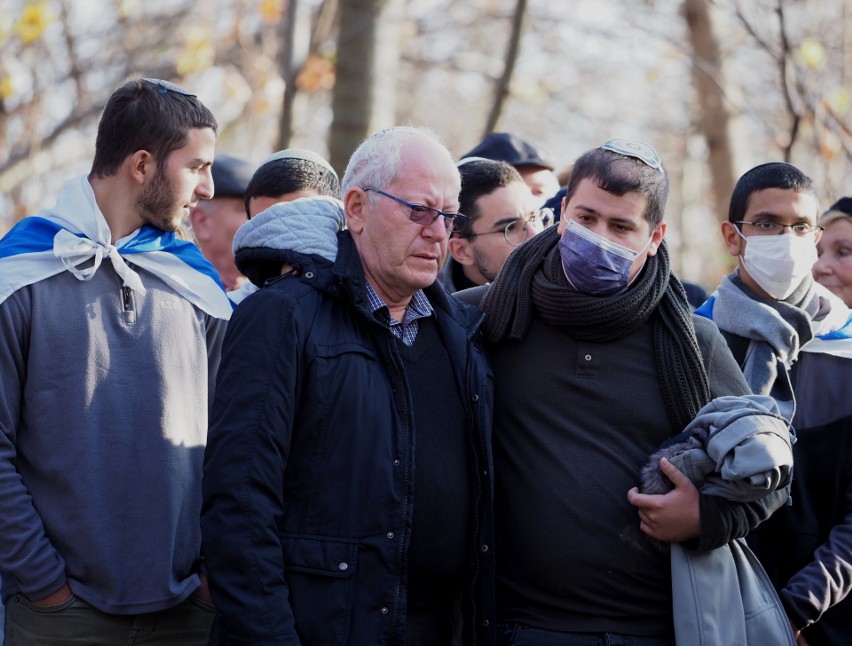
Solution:
[(278, 522), (304, 330), (292, 297), (266, 288), (228, 324), (204, 456), (202, 551), (227, 644), (299, 643)]

